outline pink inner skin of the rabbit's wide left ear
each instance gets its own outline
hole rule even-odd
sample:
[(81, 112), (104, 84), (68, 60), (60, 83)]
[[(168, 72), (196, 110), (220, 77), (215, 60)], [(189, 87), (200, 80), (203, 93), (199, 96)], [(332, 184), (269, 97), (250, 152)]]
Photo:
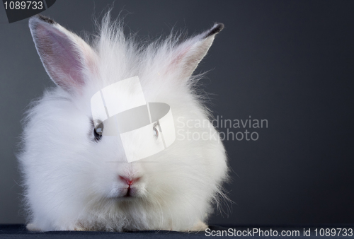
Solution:
[(52, 26), (47, 28), (38, 24), (36, 40), (45, 69), (57, 85), (68, 91), (84, 86), (84, 63), (79, 49), (68, 35)]

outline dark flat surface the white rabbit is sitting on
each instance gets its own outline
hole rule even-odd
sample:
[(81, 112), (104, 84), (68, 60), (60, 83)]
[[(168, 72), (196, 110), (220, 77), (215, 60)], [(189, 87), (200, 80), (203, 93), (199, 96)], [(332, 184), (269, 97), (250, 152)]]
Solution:
[[(318, 226), (210, 226), (210, 231), (198, 232), (198, 233), (180, 233), (176, 231), (136, 231), (136, 232), (126, 232), (126, 233), (110, 233), (110, 232), (99, 232), (99, 231), (49, 231), (49, 232), (30, 232), (25, 229), (24, 225), (0, 225), (0, 237), (8, 238), (219, 238), (217, 233), (220, 231), (227, 231), (232, 233), (236, 231), (244, 232), (244, 235), (231, 235), (228, 237), (251, 237), (251, 238), (353, 238), (353, 228), (354, 225), (318, 225)], [(333, 228), (337, 228), (333, 231)], [(342, 230), (339, 231), (338, 228)], [(345, 229), (344, 229), (345, 228)], [(317, 229), (317, 234), (315, 229)], [(333, 236), (321, 236), (319, 233), (323, 229), (323, 233), (327, 230), (333, 231)], [(252, 232), (253, 230), (263, 231), (261, 233), (246, 234), (246, 231)], [(270, 232), (271, 230), (271, 232)], [(309, 234), (304, 236), (304, 231), (309, 231)], [(266, 232), (272, 233), (266, 235)], [(275, 235), (277, 231), (278, 235)], [(298, 231), (299, 234), (293, 234)], [(346, 231), (346, 233), (344, 233)], [(214, 233), (214, 236), (212, 236)], [(220, 232), (222, 233), (222, 232)], [(287, 233), (287, 236), (282, 236), (281, 233)], [(220, 234), (222, 235), (222, 234)], [(227, 234), (224, 234), (227, 235)]]

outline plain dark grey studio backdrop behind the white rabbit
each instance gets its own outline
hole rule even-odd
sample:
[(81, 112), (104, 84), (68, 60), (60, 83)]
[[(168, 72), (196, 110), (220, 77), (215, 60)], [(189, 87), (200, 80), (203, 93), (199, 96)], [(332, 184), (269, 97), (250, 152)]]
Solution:
[[(111, 4), (57, 0), (42, 14), (82, 35)], [(256, 141), (224, 141), (234, 204), (210, 223), (354, 223), (353, 9), (354, 1), (115, 1), (113, 18), (123, 10), (127, 30), (141, 37), (224, 23), (196, 71), (211, 70), (202, 81), (209, 105), (219, 119), (268, 120), (246, 128)], [(0, 223), (23, 223), (20, 120), (53, 83), (28, 19), (8, 24), (1, 4), (0, 22)]]

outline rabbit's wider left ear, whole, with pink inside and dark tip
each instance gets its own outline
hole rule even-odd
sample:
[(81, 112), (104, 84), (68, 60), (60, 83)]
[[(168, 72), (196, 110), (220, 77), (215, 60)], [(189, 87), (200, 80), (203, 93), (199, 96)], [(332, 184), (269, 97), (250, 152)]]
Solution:
[(81, 39), (45, 16), (30, 18), (30, 33), (47, 74), (58, 86), (80, 91), (94, 71), (95, 52)]

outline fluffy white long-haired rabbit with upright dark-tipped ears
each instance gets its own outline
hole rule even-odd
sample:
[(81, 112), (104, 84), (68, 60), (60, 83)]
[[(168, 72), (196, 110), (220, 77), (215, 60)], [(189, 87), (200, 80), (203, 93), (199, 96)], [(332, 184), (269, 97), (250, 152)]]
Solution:
[[(90, 46), (50, 18), (30, 18), (35, 47), (57, 86), (47, 89), (24, 119), (18, 160), (27, 228), (204, 231), (223, 195), (228, 167), (216, 129), (193, 124), (208, 120), (210, 112), (193, 88), (198, 76), (192, 74), (223, 25), (183, 41), (171, 34), (138, 44), (109, 19), (109, 14), (103, 18)], [(178, 134), (164, 151), (127, 163), (121, 142), (93, 127), (90, 100), (132, 76), (139, 76), (147, 102), (171, 106)], [(118, 104), (129, 103), (126, 92), (117, 94)], [(188, 139), (187, 130), (204, 137)]]

